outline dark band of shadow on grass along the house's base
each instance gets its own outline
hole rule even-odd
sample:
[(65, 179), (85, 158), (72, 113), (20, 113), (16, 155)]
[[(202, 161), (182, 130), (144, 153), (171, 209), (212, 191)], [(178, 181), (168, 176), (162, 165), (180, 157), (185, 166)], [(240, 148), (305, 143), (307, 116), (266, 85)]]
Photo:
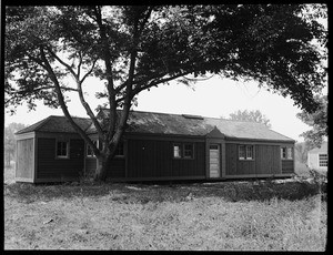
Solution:
[[(162, 184), (162, 185), (161, 185)], [(7, 196), (24, 203), (49, 201), (53, 198), (101, 197), (110, 195), (119, 203), (182, 202), (198, 197), (222, 197), (225, 201), (268, 201), (271, 198), (302, 200), (323, 191), (316, 182), (293, 181), (276, 183), (274, 181), (216, 182), (216, 183), (159, 183), (157, 184), (53, 184), (33, 185), (13, 183), (4, 186)], [(325, 191), (323, 198), (325, 200)]]

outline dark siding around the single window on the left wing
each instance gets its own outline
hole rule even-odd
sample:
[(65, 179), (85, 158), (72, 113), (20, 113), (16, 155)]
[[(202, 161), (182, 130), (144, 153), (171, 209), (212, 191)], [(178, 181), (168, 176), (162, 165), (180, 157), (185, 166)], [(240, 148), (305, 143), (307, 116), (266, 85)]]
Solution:
[(56, 139), (38, 139), (37, 178), (77, 180), (84, 169), (84, 142), (70, 140), (69, 159), (56, 159)]

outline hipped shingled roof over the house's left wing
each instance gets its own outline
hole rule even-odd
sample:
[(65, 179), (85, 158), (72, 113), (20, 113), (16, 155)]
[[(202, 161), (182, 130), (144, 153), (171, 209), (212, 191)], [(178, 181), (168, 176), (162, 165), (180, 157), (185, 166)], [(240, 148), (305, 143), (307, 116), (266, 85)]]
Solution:
[[(87, 118), (73, 116), (73, 121), (82, 129), (87, 130), (92, 121)], [(48, 116), (47, 119), (39, 121), (23, 130), (18, 131), (16, 134), (23, 134), (28, 132), (60, 132), (60, 133), (77, 133), (65, 116)]]

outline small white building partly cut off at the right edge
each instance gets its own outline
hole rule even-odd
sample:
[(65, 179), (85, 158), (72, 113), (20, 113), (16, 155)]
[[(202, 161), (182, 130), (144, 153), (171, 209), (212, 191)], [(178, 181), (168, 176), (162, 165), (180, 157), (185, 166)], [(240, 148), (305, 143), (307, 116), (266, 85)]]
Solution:
[(307, 152), (307, 166), (310, 169), (327, 171), (327, 142), (323, 142), (321, 147), (314, 147)]

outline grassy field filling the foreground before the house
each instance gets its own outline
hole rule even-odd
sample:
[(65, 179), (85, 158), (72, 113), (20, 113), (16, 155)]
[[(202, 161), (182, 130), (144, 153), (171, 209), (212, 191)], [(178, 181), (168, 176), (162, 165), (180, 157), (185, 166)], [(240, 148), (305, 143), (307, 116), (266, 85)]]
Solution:
[(324, 251), (304, 181), (31, 185), (4, 181), (6, 249)]

